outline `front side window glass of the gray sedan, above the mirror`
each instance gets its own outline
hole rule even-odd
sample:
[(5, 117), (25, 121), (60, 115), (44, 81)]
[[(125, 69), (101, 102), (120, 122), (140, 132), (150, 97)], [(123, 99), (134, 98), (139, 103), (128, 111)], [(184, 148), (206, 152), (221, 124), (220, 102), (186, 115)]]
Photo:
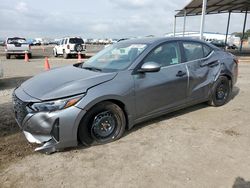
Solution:
[(158, 46), (144, 59), (145, 62), (156, 62), (162, 67), (180, 63), (181, 55), (178, 43), (170, 42)]

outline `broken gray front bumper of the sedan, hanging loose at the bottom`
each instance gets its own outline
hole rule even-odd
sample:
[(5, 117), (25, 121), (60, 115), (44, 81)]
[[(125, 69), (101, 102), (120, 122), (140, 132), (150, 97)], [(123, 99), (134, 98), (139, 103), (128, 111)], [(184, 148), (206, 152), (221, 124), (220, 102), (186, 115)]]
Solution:
[(26, 139), (42, 144), (35, 151), (53, 153), (78, 145), (77, 130), (83, 110), (75, 106), (54, 112), (29, 113), (28, 103), (13, 95), (15, 118)]

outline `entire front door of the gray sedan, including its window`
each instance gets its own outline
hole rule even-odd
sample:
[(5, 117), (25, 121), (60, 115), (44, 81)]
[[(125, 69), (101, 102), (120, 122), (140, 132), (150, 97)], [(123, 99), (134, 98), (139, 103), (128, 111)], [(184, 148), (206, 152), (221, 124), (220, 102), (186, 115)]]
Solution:
[(134, 75), (137, 117), (153, 115), (183, 104), (187, 92), (187, 69), (181, 64), (177, 42), (168, 42), (154, 48), (143, 63), (155, 62), (159, 72)]

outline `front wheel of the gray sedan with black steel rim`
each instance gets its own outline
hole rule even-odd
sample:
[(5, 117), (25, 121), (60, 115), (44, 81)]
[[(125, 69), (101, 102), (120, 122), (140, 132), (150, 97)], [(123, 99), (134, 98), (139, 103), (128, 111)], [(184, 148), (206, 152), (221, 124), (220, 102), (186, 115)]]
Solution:
[(119, 139), (126, 127), (123, 110), (111, 102), (102, 102), (91, 108), (78, 128), (78, 140), (85, 146), (105, 144)]

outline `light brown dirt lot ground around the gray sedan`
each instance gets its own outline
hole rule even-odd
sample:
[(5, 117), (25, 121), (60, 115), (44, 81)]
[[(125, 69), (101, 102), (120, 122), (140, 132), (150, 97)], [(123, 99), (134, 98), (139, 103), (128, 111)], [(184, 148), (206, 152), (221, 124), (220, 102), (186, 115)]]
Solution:
[(137, 125), (114, 143), (44, 155), (20, 133), (11, 93), (43, 71), (45, 55), (51, 67), (77, 59), (35, 53), (29, 63), (0, 56), (0, 187), (250, 187), (250, 58), (241, 58), (234, 98), (223, 107), (196, 105)]

